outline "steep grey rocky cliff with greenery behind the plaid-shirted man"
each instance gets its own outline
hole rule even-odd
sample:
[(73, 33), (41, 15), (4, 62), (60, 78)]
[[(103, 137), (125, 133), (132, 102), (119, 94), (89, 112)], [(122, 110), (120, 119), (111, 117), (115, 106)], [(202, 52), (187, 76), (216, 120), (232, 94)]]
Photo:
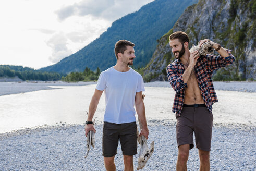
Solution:
[(169, 47), (169, 35), (184, 31), (189, 48), (208, 38), (231, 50), (233, 65), (214, 72), (214, 80), (256, 80), (256, 1), (200, 0), (189, 6), (174, 27), (162, 36), (144, 69), (144, 80), (168, 80), (166, 66), (175, 60)]

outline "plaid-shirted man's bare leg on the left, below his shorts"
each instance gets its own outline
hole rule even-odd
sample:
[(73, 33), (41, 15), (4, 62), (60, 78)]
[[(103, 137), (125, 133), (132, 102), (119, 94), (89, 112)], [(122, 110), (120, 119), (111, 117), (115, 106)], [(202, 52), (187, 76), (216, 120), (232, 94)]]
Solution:
[(176, 164), (177, 171), (187, 171), (188, 155), (189, 155), (189, 144), (180, 145), (178, 160)]

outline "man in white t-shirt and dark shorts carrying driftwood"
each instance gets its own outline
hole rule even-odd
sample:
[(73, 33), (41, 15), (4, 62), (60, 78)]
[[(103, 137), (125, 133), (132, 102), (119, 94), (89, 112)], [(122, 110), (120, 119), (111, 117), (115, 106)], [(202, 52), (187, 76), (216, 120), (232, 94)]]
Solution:
[(115, 45), (116, 65), (100, 74), (89, 106), (86, 122), (86, 136), (90, 130), (96, 131), (92, 118), (100, 97), (105, 91), (106, 109), (104, 115), (102, 151), (106, 170), (116, 170), (114, 163), (118, 140), (124, 156), (125, 170), (133, 170), (133, 155), (137, 154), (137, 126), (135, 108), (142, 124), (140, 136), (148, 139), (149, 130), (142, 100), (144, 83), (142, 76), (129, 67), (135, 58), (135, 44), (119, 40)]

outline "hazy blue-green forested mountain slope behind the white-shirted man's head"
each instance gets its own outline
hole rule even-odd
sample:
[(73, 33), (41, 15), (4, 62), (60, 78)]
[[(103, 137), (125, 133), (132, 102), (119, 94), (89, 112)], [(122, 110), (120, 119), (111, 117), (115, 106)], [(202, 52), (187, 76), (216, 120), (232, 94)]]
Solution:
[(155, 0), (135, 13), (113, 22), (107, 31), (80, 51), (41, 70), (63, 73), (83, 71), (86, 67), (105, 70), (115, 65), (114, 46), (121, 39), (136, 44), (134, 67), (144, 67), (152, 57), (157, 39), (173, 27), (189, 5), (197, 2), (198, 0)]

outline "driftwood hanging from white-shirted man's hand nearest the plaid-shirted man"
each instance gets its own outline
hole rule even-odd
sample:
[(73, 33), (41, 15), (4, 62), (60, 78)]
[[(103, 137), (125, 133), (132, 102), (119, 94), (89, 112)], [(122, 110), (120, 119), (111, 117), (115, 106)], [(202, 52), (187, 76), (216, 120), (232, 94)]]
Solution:
[[(144, 100), (145, 95), (142, 95), (142, 99)], [(139, 121), (139, 125), (140, 125), (140, 130), (142, 129), (142, 125), (140, 122), (140, 119), (138, 117), (138, 121)], [(147, 161), (149, 160), (149, 158), (151, 157), (152, 153), (154, 152), (154, 141), (152, 141), (152, 143), (150, 144), (150, 148), (148, 148), (148, 144), (147, 144), (147, 139), (144, 136), (139, 137), (139, 131), (137, 128), (137, 140), (140, 144), (140, 153), (139, 153), (139, 158), (138, 158), (138, 168), (142, 169)]]

